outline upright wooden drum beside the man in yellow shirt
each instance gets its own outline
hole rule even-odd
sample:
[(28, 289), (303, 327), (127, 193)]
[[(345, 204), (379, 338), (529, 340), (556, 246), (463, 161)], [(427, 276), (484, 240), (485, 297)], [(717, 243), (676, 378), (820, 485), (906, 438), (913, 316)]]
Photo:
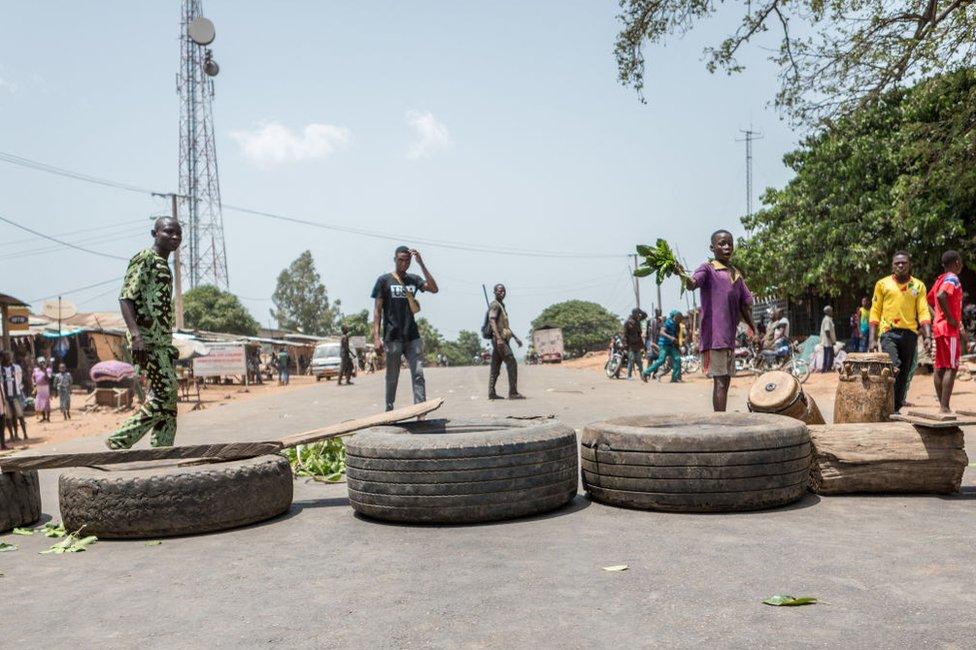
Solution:
[(885, 352), (848, 354), (840, 369), (834, 423), (887, 422), (895, 410), (895, 370)]

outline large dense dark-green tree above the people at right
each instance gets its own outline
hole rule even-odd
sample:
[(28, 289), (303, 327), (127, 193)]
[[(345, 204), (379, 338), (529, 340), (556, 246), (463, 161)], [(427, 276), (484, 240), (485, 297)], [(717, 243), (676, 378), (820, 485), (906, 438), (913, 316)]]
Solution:
[(976, 244), (976, 71), (885, 94), (787, 154), (796, 176), (744, 219), (737, 264), (760, 292), (870, 289), (898, 249), (931, 280)]

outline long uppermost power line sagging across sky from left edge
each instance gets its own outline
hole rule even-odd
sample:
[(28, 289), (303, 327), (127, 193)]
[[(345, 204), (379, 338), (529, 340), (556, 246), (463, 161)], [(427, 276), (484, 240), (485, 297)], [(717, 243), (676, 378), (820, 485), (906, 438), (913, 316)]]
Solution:
[[(41, 171), (48, 174), (55, 174), (66, 178), (72, 178), (74, 180), (84, 181), (87, 183), (94, 183), (96, 185), (102, 185), (105, 187), (125, 190), (128, 192), (137, 192), (140, 194), (148, 194), (150, 196), (153, 194), (167, 194), (167, 192), (162, 192), (159, 190), (139, 187), (137, 185), (130, 185), (128, 183), (120, 183), (118, 181), (100, 178), (98, 176), (92, 176), (90, 174), (82, 174), (80, 172), (75, 172), (70, 169), (64, 169), (62, 167), (55, 167), (54, 165), (48, 165), (47, 163), (38, 162), (36, 160), (30, 160), (29, 158), (23, 158), (21, 156), (15, 156), (13, 154), (2, 152), (2, 151), (0, 151), (0, 161), (7, 162), (12, 165), (19, 165), (21, 167), (34, 169), (36, 171)], [(366, 228), (356, 228), (354, 226), (342, 226), (334, 223), (311, 221), (308, 219), (299, 219), (297, 217), (289, 217), (287, 215), (276, 214), (273, 212), (266, 212), (263, 210), (254, 210), (251, 208), (246, 208), (243, 206), (233, 205), (229, 203), (223, 203), (222, 206), (224, 208), (227, 208), (228, 210), (234, 210), (235, 212), (241, 212), (243, 214), (250, 214), (253, 216), (263, 217), (266, 219), (274, 219), (277, 221), (296, 223), (304, 226), (310, 226), (313, 228), (320, 228), (323, 230), (346, 232), (354, 235), (359, 235), (361, 237), (372, 237), (374, 239), (383, 239), (386, 241), (413, 241), (419, 244), (423, 244), (425, 246), (434, 246), (437, 248), (447, 248), (447, 249), (467, 251), (472, 253), (491, 253), (495, 255), (510, 255), (516, 257), (548, 257), (548, 258), (576, 258), (576, 259), (610, 259), (610, 258), (625, 257), (625, 255), (614, 254), (614, 253), (584, 253), (578, 251), (542, 251), (542, 250), (532, 250), (532, 249), (524, 249), (524, 248), (513, 248), (507, 246), (476, 246), (473, 244), (465, 244), (463, 242), (418, 238), (413, 235), (405, 236), (405, 235), (399, 235), (393, 233), (382, 233), (382, 232), (377, 232)]]

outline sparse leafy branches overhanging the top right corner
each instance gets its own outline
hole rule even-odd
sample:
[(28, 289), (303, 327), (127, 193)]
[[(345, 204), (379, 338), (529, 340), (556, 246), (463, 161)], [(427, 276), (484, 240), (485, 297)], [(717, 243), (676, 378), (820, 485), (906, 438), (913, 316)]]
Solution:
[(735, 31), (705, 49), (708, 70), (741, 71), (740, 51), (766, 46), (767, 32), (773, 32), (779, 40), (778, 47), (769, 48), (779, 68), (776, 105), (807, 123), (846, 114), (905, 80), (956, 70), (976, 54), (974, 0), (618, 2), (622, 29), (615, 54), (622, 83), (638, 93), (643, 89), (645, 43), (661, 45), (669, 36), (684, 36), (720, 9), (737, 12)]

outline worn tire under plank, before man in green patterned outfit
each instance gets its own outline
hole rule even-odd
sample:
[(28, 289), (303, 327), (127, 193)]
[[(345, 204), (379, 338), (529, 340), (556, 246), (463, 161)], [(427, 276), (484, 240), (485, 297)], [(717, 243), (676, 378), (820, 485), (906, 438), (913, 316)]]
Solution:
[(288, 460), (276, 454), (226, 463), (65, 472), (65, 528), (103, 538), (208, 533), (270, 519), (291, 507)]

